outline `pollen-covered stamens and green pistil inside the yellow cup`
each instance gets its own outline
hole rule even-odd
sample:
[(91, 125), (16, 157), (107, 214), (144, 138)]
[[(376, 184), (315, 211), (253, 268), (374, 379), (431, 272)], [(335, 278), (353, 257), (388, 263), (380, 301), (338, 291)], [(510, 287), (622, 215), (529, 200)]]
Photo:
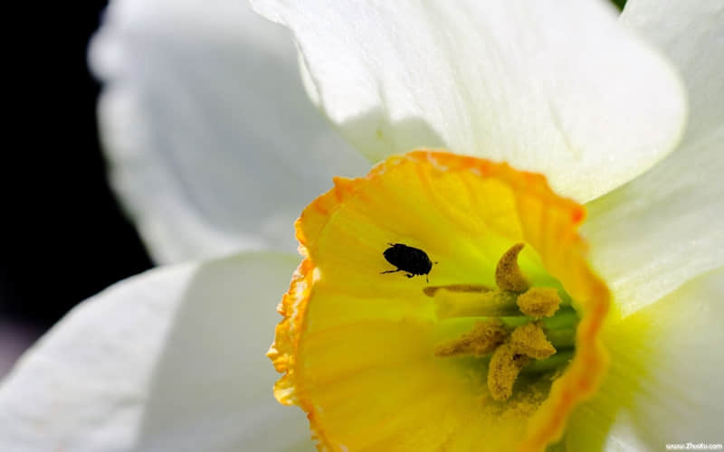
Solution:
[(434, 354), (482, 359), (493, 400), (510, 399), (520, 372), (555, 378), (573, 357), (577, 315), (569, 306), (559, 309), (558, 290), (562, 289), (529, 287), (518, 265), (522, 249), (522, 243), (513, 245), (498, 261), (497, 289), (474, 285), (424, 288), (425, 295), (435, 298), (439, 318), (475, 319), (469, 332), (438, 344)]

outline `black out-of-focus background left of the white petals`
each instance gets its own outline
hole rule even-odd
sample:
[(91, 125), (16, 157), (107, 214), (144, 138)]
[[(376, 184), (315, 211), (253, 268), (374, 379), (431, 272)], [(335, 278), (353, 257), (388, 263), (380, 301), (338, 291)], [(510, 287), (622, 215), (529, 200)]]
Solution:
[[(106, 180), (86, 50), (107, 2), (25, 6), (9, 42), (2, 152), (0, 376), (73, 305), (151, 262)], [(9, 61), (8, 61), (9, 60)], [(5, 363), (5, 364), (4, 364)]]

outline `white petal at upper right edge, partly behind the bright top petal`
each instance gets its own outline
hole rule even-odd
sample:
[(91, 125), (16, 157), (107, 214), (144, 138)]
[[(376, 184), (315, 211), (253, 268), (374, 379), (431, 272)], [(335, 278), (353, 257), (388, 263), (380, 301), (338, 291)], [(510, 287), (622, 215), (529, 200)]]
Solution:
[(588, 206), (592, 259), (624, 313), (724, 265), (724, 4), (629, 5), (626, 22), (680, 64), (691, 121), (676, 152)]

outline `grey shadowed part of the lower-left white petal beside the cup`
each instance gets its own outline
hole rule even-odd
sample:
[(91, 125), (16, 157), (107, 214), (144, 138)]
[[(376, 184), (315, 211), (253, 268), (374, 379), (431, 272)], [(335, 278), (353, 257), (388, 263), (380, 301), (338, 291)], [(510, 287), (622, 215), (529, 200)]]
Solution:
[(301, 410), (274, 400), (277, 374), (265, 356), (297, 264), (244, 255), (195, 274), (150, 382), (137, 449), (313, 449)]

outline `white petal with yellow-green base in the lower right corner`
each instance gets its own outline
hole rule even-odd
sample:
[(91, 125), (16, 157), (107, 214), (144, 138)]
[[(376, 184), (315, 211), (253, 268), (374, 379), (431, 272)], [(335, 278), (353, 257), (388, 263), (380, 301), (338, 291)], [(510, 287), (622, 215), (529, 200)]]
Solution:
[[(568, 450), (721, 443), (724, 268), (607, 325), (611, 369), (570, 420)], [(598, 443), (598, 444), (595, 444)]]

